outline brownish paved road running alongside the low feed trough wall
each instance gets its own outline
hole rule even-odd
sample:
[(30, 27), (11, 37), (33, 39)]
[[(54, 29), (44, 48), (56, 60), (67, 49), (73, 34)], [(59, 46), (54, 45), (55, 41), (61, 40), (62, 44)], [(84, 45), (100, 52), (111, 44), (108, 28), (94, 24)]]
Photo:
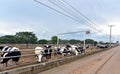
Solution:
[(120, 46), (39, 74), (120, 74)]

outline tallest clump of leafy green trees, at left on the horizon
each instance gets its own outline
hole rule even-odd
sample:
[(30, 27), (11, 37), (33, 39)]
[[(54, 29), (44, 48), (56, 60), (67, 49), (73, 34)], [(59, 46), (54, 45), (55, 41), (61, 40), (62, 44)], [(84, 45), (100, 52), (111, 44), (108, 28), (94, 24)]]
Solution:
[(37, 37), (33, 32), (18, 32), (16, 35), (5, 35), (0, 37), (0, 43), (24, 43), (34, 44), (37, 42)]

